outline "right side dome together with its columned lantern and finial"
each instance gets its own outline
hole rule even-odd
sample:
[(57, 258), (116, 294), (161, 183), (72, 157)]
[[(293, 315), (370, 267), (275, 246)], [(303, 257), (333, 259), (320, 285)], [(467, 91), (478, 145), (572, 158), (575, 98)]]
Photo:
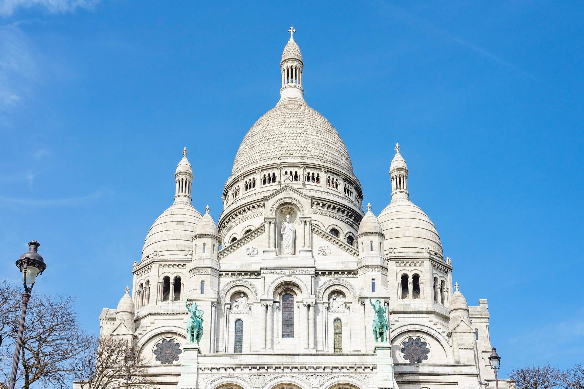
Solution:
[(395, 255), (428, 253), (442, 257), (442, 243), (432, 220), (409, 199), (408, 166), (395, 144), (391, 161), (391, 202), (378, 216), (385, 248)]

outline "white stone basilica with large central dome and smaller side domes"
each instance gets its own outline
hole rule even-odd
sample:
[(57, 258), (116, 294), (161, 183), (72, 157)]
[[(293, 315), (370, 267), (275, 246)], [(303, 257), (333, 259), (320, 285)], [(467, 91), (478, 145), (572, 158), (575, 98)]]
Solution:
[[(494, 387), (487, 302), (468, 306), (453, 287), (399, 146), (389, 204), (364, 211), (345, 144), (304, 100), (289, 32), (280, 100), (241, 142), (218, 223), (191, 204), (185, 149), (174, 202), (148, 231), (131, 295), (100, 314), (101, 334), (137, 345), (160, 389), (186, 388), (186, 299), (203, 311), (189, 388)], [(387, 347), (370, 297), (387, 307)]]

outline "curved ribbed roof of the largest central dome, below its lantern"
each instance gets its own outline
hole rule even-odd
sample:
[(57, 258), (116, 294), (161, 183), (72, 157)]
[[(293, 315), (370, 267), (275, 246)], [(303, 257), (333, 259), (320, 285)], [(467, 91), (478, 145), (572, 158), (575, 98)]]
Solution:
[(239, 146), (232, 173), (294, 156), (316, 160), (353, 173), (339, 133), (302, 99), (280, 100), (249, 129)]

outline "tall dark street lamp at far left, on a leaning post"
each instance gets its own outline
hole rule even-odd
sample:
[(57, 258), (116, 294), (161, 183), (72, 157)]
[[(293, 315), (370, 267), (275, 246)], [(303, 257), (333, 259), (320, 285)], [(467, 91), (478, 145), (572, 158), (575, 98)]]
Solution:
[(37, 253), (39, 246), (40, 244), (36, 240), (30, 241), (29, 251), (20, 255), (20, 258), (16, 261), (16, 267), (22, 272), (22, 283), (25, 286), (25, 293), (22, 293), (22, 314), (20, 314), (20, 326), (18, 327), (18, 338), (16, 339), (14, 349), (14, 359), (12, 361), (12, 372), (10, 374), (10, 381), (8, 381), (8, 389), (14, 389), (16, 384), (16, 372), (18, 372), (20, 346), (22, 345), (22, 331), (25, 327), (26, 306), (29, 303), (30, 292), (33, 290), (37, 275), (40, 275), (47, 268), (43, 257)]

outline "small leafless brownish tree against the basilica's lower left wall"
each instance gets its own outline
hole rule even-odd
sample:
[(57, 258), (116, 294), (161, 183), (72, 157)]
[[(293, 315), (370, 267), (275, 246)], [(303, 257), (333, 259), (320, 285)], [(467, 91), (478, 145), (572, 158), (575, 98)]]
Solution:
[(74, 386), (81, 389), (152, 388), (147, 365), (125, 339), (93, 339), (91, 347), (75, 358)]

